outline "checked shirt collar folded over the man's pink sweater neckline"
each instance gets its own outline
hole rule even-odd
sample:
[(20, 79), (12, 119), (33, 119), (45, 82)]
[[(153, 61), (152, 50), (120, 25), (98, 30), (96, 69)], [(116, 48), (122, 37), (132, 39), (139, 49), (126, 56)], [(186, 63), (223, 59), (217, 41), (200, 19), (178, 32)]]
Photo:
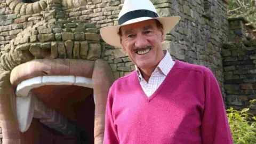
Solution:
[[(172, 57), (168, 51), (166, 50), (163, 50), (163, 51), (165, 53), (164, 58), (158, 63), (156, 69), (158, 68), (159, 71), (161, 71), (165, 76), (167, 76), (172, 66), (174, 65), (174, 61), (172, 60)], [(141, 75), (140, 69), (136, 65), (135, 65), (135, 70), (137, 71), (137, 75), (140, 81), (142, 79), (142, 75)]]

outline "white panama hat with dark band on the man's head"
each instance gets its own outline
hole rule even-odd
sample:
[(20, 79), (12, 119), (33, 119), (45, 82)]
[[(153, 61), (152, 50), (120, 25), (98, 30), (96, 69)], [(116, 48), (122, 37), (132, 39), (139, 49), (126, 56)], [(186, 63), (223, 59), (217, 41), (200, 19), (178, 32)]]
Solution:
[(158, 17), (155, 6), (149, 0), (125, 0), (122, 10), (118, 15), (118, 25), (103, 27), (100, 29), (102, 39), (109, 45), (121, 47), (118, 35), (121, 26), (140, 22), (149, 19), (156, 19), (163, 25), (164, 35), (180, 21), (179, 16)]

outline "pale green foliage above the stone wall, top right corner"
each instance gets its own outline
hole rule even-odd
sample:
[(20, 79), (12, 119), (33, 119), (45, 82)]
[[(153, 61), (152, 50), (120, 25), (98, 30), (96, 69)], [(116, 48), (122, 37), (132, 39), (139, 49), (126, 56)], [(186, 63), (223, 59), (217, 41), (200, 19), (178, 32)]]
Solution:
[(244, 17), (256, 26), (255, 0), (228, 0), (228, 14), (230, 17)]

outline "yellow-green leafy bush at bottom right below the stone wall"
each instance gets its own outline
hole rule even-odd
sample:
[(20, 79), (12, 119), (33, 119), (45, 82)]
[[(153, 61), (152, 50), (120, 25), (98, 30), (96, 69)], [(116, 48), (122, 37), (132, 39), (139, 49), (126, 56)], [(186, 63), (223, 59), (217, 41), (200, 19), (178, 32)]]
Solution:
[(227, 109), (228, 122), (235, 144), (256, 143), (256, 117), (249, 113), (253, 106), (252, 100), (249, 108), (240, 111), (233, 108)]

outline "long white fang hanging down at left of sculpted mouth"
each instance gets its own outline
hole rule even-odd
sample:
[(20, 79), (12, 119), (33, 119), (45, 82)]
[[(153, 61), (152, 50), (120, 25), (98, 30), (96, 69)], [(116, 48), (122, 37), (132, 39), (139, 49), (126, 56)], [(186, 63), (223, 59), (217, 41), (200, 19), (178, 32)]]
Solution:
[(20, 132), (26, 132), (32, 122), (35, 97), (29, 93), (27, 97), (16, 97), (17, 118)]

